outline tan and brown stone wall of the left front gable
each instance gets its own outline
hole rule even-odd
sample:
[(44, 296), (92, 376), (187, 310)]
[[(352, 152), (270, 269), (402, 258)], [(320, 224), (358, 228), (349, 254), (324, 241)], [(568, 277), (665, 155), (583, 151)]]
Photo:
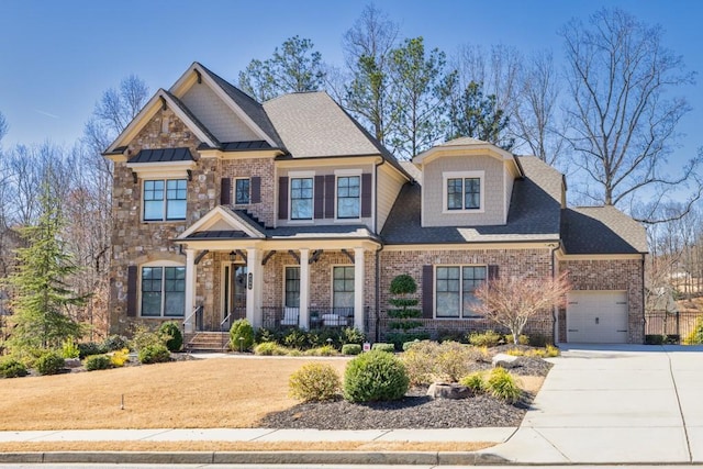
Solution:
[[(168, 120), (168, 132), (161, 132), (163, 120)], [(170, 110), (159, 111), (130, 143), (130, 155), (141, 149), (188, 147), (198, 158), (200, 142)], [(112, 333), (124, 334), (134, 319), (126, 316), (127, 267), (153, 260), (174, 260), (186, 264), (186, 256), (170, 239), (182, 233), (186, 226), (199, 220), (217, 204), (219, 181), (215, 180), (217, 161), (200, 159), (188, 182), (188, 211), (185, 222), (142, 221), (143, 180), (134, 182), (132, 170), (125, 163), (114, 165), (112, 263), (110, 268), (110, 324)], [(204, 263), (204, 264), (203, 264)], [(208, 261), (199, 266), (199, 283), (208, 283)], [(198, 301), (208, 302), (199, 289)], [(140, 320), (137, 316), (136, 320)], [(163, 320), (140, 320), (146, 324), (159, 324)]]

